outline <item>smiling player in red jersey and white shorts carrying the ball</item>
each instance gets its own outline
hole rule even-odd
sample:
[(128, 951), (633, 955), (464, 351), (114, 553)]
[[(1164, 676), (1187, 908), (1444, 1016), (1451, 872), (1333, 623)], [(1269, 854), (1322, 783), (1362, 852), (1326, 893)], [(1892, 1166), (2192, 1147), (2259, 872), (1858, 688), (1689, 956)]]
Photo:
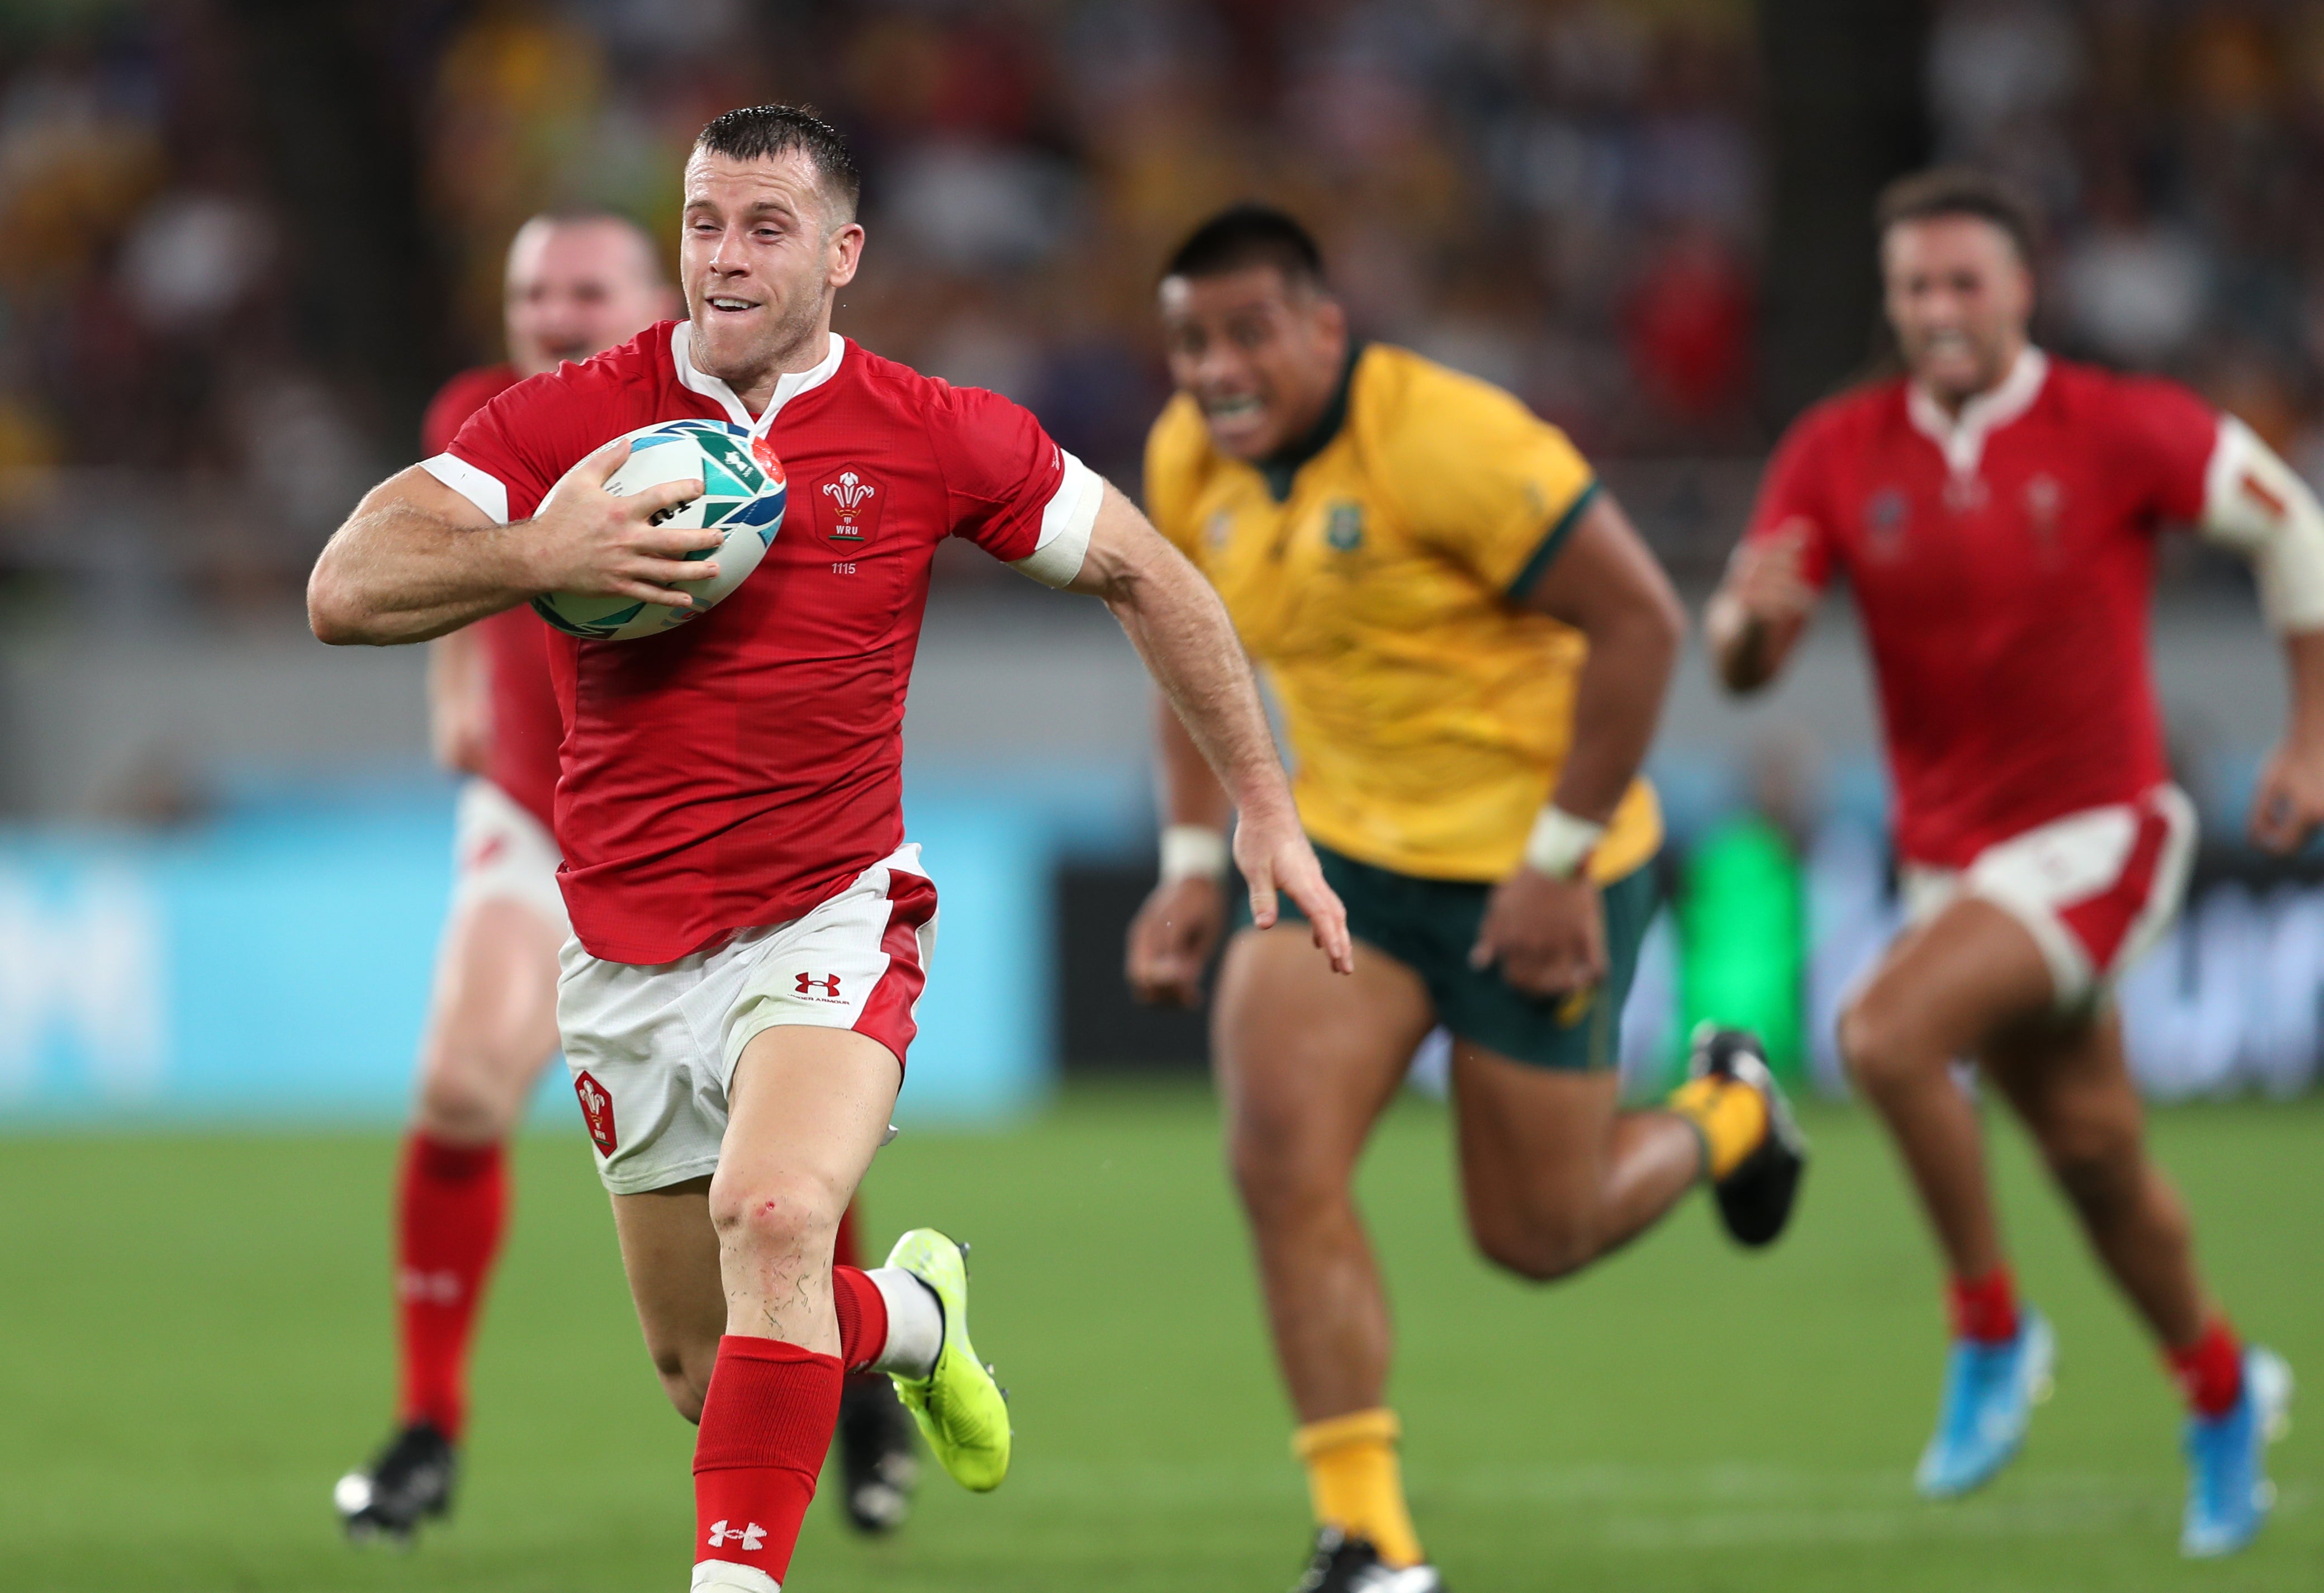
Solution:
[(830, 330), (865, 240), (855, 198), (813, 116), (711, 121), (686, 165), (688, 319), (495, 398), (374, 488), (309, 581), (316, 635), (342, 644), (421, 642), (548, 591), (679, 607), (672, 581), (713, 570), (683, 556), (720, 535), (653, 514), (700, 484), (611, 498), (609, 440), (723, 419), (790, 479), (781, 535), (713, 614), (551, 642), (574, 926), (558, 1023), (648, 1353), (702, 1428), (695, 1588), (781, 1584), (848, 1367), (895, 1377), (962, 1484), (1009, 1467), (960, 1246), (920, 1228), (885, 1267), (832, 1265), (934, 940), (899, 728), (941, 537), (1109, 602), (1236, 802), (1255, 919), (1287, 893), (1353, 965), (1208, 584), (1025, 409)]

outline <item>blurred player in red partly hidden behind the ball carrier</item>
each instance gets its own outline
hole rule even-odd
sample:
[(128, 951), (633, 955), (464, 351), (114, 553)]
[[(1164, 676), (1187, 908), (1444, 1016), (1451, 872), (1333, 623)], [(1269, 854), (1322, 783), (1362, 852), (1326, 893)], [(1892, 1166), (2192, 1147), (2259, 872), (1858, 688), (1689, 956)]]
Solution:
[[(421, 421), (430, 456), (504, 388), (627, 342), (674, 314), (679, 295), (634, 221), (560, 212), (516, 230), (502, 305), (509, 358), (444, 384)], [(469, 1344), (507, 1228), (504, 1142), (558, 1051), (558, 946), (572, 928), (551, 840), (565, 726), (546, 637), (539, 619), (507, 609), (428, 647), (435, 756), (469, 781), (395, 1191), (397, 1433), (335, 1488), (353, 1535), (407, 1537), (451, 1507)], [(853, 1221), (841, 1223), (839, 1260), (860, 1260)], [(916, 1458), (888, 1379), (848, 1379), (841, 1451), (848, 1519), (865, 1530), (897, 1526)]]

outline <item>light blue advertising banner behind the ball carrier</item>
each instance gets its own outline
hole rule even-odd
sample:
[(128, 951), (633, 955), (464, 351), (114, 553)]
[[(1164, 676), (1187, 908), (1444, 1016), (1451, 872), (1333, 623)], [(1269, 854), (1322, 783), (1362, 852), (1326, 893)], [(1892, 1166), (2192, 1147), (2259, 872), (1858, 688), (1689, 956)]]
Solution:
[[(899, 1121), (997, 1121), (1055, 1072), (1048, 842), (913, 805), (941, 893)], [(451, 793), (177, 835), (0, 833), (0, 1123), (393, 1119), (451, 893)], [(565, 1070), (539, 1112), (576, 1121)]]

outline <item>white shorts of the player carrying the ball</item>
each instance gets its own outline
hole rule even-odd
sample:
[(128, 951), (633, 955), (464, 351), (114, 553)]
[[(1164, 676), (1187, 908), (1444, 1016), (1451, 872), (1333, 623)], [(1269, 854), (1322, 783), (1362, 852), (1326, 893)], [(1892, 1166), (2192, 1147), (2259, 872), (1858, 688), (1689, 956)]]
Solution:
[(899, 846), (804, 916), (676, 963), (558, 956), (558, 1028), (597, 1177), (637, 1195), (718, 1167), (727, 1086), (769, 1028), (848, 1028), (902, 1063), (937, 946), (937, 886)]

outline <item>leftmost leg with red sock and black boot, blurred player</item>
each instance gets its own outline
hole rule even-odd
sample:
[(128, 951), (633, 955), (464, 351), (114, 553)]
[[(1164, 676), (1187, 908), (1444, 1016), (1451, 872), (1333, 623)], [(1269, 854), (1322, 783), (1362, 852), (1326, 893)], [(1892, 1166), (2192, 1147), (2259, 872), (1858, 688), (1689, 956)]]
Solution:
[(476, 1312), (507, 1228), (504, 1140), (558, 1051), (558, 944), (525, 902), (481, 898), (444, 926), (397, 1186), (397, 1433), (335, 1488), (356, 1537), (409, 1537), (451, 1509)]

